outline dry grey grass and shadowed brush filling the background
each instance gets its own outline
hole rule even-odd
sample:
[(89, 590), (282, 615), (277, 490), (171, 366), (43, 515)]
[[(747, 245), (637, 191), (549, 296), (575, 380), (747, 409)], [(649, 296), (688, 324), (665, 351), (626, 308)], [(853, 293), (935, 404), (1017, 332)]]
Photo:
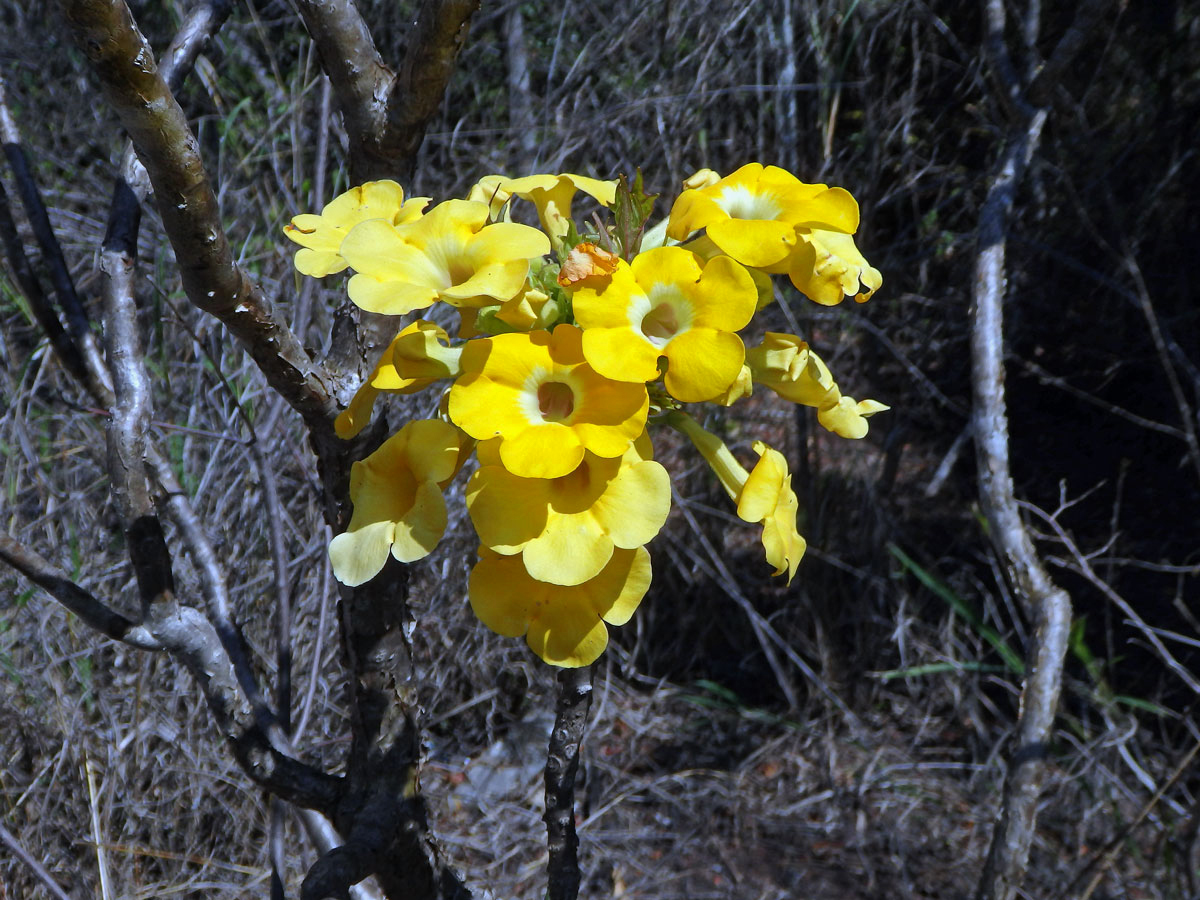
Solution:
[[(161, 46), (176, 5), (143, 6), (143, 25)], [(390, 59), (398, 59), (407, 6), (373, 5)], [(1184, 638), (1196, 638), (1200, 600), (1196, 571), (1186, 566), (1198, 562), (1200, 485), (1178, 466), (1177, 442), (1111, 410), (1178, 420), (1165, 364), (1129, 312), (1120, 253), (1105, 257), (1105, 247), (1124, 247), (1150, 274), (1147, 290), (1174, 342), (1170, 365), (1183, 373), (1194, 409), (1200, 324), (1188, 276), (1196, 260), (1180, 248), (1190, 235), (1194, 251), (1198, 233), (1194, 214), (1176, 199), (1194, 196), (1194, 161), (1182, 162), (1195, 143), (1188, 136), (1196, 126), (1187, 122), (1200, 120), (1188, 115), (1196, 91), (1182, 61), (1184, 6), (1178, 24), (1168, 25), (1127, 12), (1122, 28), (1141, 43), (1106, 36), (1094, 68), (1064, 85), (1078, 102), (1057, 114), (1019, 210), (1013, 353), (1109, 408), (1021, 368), (1013, 370), (1010, 402), (1020, 492), (1054, 509), (1060, 482), (1072, 497), (1097, 486), (1060, 521), (1097, 551), (1094, 565), (1151, 625), (1182, 635), (1170, 647), (1195, 667)], [(528, 95), (508, 82), (514, 10), (523, 13)], [(36, 11), (0, 2), (0, 23), (10, 26), (0, 29), (10, 35), (0, 65), (54, 226), (92, 296), (120, 148), (115, 125), (92, 102), (65, 38)], [(671, 194), (702, 166), (778, 161), (854, 191), (860, 245), (886, 277), (862, 310), (814, 310), (786, 298), (755, 324), (794, 324), (848, 392), (894, 406), (866, 440), (838, 442), (772, 397), (755, 397), (725, 422), (736, 449), (767, 437), (804, 474), (812, 551), (792, 589), (766, 577), (755, 535), (732, 526), (696, 460), (670, 439), (659, 448), (677, 473), (678, 502), (655, 545), (655, 590), (598, 671), (580, 788), (584, 896), (893, 900), (965, 896), (974, 883), (1016, 680), (979, 630), (906, 575), (886, 546), (902, 546), (1010, 646), (1024, 647), (1025, 623), (972, 510), (970, 444), (947, 478), (936, 475), (970, 403), (971, 229), (1000, 115), (978, 43), (973, 12), (916, 0), (572, 0), (490, 6), (475, 23), (414, 193), (452, 196), (497, 170), (607, 176), (641, 166), (648, 184)], [(334, 122), (325, 197), (311, 194), (317, 76), (287, 5), (263, 1), (235, 13), (184, 91), (234, 246), (284, 306), (296, 282), (280, 226), (346, 187)], [(1150, 85), (1160, 94), (1148, 96)], [(1156, 128), (1169, 137), (1154, 145), (1139, 137)], [(1123, 155), (1122, 142), (1147, 162), (1130, 163), (1139, 157)], [(276, 412), (278, 401), (220, 326), (188, 307), (149, 218), (139, 300), (156, 437), (229, 572), (238, 619), (270, 683), (266, 508), (236, 407), (258, 428), (272, 422), (262, 450), (284, 504), (296, 704), (307, 714), (296, 743), (307, 758), (336, 768), (346, 749), (336, 594), (302, 428), (289, 410)], [(306, 335), (318, 350), (343, 296), (336, 277), (326, 281), (316, 288)], [(133, 604), (107, 496), (104, 419), (59, 367), (2, 272), (0, 362), (4, 527), (97, 595)], [(396, 404), (389, 418), (410, 412)], [(926, 494), (935, 480), (937, 491)], [(414, 640), (431, 724), (422, 784), (468, 883), (480, 895), (535, 898), (545, 877), (539, 776), (516, 761), (542, 752), (538, 728), (552, 706), (552, 673), (470, 616), (464, 583), (474, 538), (457, 509), (443, 546), (414, 566)], [(1081, 655), (1072, 661), (1031, 896), (1055, 896), (1121, 836), (1198, 734), (1194, 697), (1073, 575), (1079, 566), (1061, 542), (1043, 547), (1087, 617), (1082, 642), (1098, 667), (1090, 672)], [(179, 559), (187, 596), (196, 577)], [(1147, 571), (1147, 562), (1182, 568)], [(756, 634), (737, 593), (778, 643)], [(914, 666), (940, 668), (880, 676)], [(1154, 715), (1146, 703), (1169, 712)], [(506, 780), (481, 788), (488, 772)], [(1094, 896), (1196, 896), (1196, 788), (1192, 774), (1170, 786), (1146, 823), (1122, 838)], [(264, 798), (223, 752), (185, 674), (164, 658), (96, 638), (7, 570), (0, 824), (80, 895), (100, 895), (102, 883), (114, 898), (268, 893)], [(295, 823), (288, 828), (292, 895), (312, 857)], [(11, 898), (46, 895), (6, 854), (0, 888)]]

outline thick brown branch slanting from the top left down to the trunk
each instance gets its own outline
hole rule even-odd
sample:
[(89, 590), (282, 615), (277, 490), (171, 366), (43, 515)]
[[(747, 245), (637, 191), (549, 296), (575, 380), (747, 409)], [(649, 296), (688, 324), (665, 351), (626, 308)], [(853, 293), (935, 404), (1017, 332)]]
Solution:
[(331, 438), (337, 408), (324, 372), (234, 263), (196, 138), (128, 8), (120, 0), (61, 0), (61, 6), (146, 167), (188, 299), (238, 337), (314, 438)]

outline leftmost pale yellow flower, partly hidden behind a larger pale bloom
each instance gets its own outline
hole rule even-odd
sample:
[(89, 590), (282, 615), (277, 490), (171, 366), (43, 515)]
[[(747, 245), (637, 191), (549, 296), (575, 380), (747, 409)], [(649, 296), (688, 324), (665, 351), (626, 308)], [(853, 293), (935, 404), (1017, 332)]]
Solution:
[(319, 216), (311, 212), (295, 216), (284, 226), (283, 234), (301, 247), (296, 251), (296, 270), (320, 278), (346, 268), (338, 251), (342, 239), (359, 222), (382, 218), (404, 224), (419, 218), (428, 202), (428, 197), (413, 197), (406, 203), (404, 188), (395, 181), (367, 181), (335, 197)]

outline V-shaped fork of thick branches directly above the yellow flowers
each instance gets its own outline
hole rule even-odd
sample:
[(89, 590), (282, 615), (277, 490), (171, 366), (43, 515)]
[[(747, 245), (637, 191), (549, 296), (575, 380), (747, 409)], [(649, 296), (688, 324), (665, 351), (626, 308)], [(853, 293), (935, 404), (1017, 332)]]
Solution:
[(413, 175), (479, 0), (425, 0), (400, 74), (384, 62), (349, 0), (298, 0), (350, 139), (350, 181)]

